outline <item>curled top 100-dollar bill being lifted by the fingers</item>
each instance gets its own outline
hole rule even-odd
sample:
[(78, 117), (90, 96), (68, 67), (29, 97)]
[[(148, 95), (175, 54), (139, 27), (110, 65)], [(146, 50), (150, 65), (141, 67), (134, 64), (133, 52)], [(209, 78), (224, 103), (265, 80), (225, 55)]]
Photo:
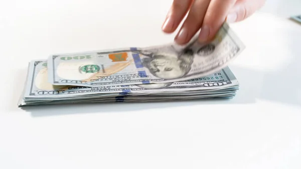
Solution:
[(171, 43), (51, 55), (48, 80), (53, 85), (87, 87), (185, 81), (220, 71), (245, 48), (227, 24), (210, 43), (199, 43), (197, 38), (185, 46)]

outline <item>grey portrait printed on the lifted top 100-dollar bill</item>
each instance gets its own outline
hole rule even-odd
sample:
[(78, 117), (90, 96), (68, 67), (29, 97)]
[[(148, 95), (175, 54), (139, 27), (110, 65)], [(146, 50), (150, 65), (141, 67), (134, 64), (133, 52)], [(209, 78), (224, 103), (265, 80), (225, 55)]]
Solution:
[(142, 64), (154, 76), (161, 79), (176, 79), (186, 76), (191, 70), (194, 52), (185, 49), (181, 52), (157, 49), (152, 51), (139, 51)]

